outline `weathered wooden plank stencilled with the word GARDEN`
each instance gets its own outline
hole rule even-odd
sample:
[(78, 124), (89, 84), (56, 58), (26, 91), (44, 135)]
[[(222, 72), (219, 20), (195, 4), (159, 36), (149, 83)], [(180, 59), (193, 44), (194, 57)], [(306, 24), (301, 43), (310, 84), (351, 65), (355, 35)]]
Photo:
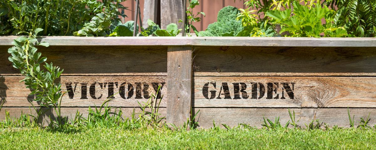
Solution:
[(192, 106), (376, 108), (376, 77), (194, 77)]

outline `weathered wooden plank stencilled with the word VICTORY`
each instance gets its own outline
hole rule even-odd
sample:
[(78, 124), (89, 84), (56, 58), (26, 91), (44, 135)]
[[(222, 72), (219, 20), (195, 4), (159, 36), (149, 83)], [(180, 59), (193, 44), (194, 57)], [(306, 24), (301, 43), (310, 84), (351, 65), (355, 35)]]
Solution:
[[(0, 76), (0, 105), (3, 106), (31, 106), (34, 96), (30, 89), (25, 88), (22, 76)], [(156, 95), (158, 85), (162, 86), (161, 97), (166, 95), (167, 85), (164, 76), (62, 76), (59, 80), (62, 91), (66, 92), (61, 106), (84, 107), (100, 106), (107, 99), (113, 99), (109, 106), (138, 107), (139, 102), (147, 102), (151, 94)], [(38, 106), (38, 103), (33, 102)], [(166, 100), (162, 99), (161, 107), (166, 107)]]

